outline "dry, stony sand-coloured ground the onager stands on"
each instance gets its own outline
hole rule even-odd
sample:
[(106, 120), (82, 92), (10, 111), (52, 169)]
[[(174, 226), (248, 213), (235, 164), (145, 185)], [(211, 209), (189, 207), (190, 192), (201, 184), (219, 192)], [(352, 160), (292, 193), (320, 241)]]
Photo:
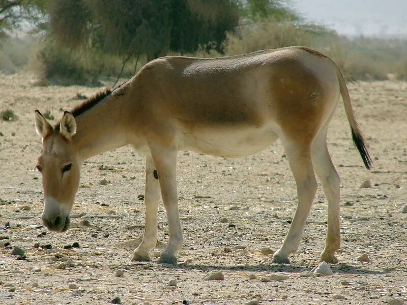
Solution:
[[(179, 153), (185, 242), (176, 265), (157, 264), (168, 240), (162, 202), (153, 260), (131, 261), (144, 226), (145, 162), (130, 147), (83, 164), (70, 229), (47, 231), (40, 219), (34, 110), (50, 111), (55, 123), (82, 102), (78, 94), (89, 97), (101, 88), (42, 87), (31, 74), (1, 74), (0, 112), (11, 109), (18, 119), (0, 119), (0, 303), (407, 303), (407, 82), (348, 87), (374, 167), (364, 168), (340, 101), (328, 136), (341, 176), (339, 263), (330, 264), (333, 275), (302, 277), (325, 245), (327, 200), (319, 186), (298, 252), (290, 264), (273, 264), (272, 250), (280, 247), (297, 201), (279, 141), (241, 159)], [(366, 180), (370, 187), (361, 187)], [(79, 248), (64, 249), (74, 242)], [(25, 259), (12, 255), (14, 247)], [(359, 261), (362, 254), (370, 261)], [(224, 280), (206, 280), (215, 271)], [(275, 272), (285, 280), (272, 280)]]

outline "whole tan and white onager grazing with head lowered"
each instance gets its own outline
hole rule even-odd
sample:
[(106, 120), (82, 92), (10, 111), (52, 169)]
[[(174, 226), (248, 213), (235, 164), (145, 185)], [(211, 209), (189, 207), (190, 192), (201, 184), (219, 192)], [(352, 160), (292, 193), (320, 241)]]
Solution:
[(222, 58), (153, 60), (120, 87), (65, 111), (54, 127), (35, 111), (43, 143), (37, 165), (45, 197), (42, 221), (49, 230), (66, 231), (82, 162), (130, 144), (146, 156), (146, 224), (133, 260), (151, 260), (161, 193), (169, 242), (158, 262), (176, 263), (183, 244), (177, 152), (244, 157), (280, 138), (296, 181), (298, 206), (273, 262), (289, 263), (288, 256), (299, 246), (317, 189), (315, 171), (328, 199), (321, 260), (335, 263), (340, 248), (340, 180), (326, 138), (339, 95), (353, 141), (369, 169), (371, 159), (346, 84), (329, 57), (296, 46)]

